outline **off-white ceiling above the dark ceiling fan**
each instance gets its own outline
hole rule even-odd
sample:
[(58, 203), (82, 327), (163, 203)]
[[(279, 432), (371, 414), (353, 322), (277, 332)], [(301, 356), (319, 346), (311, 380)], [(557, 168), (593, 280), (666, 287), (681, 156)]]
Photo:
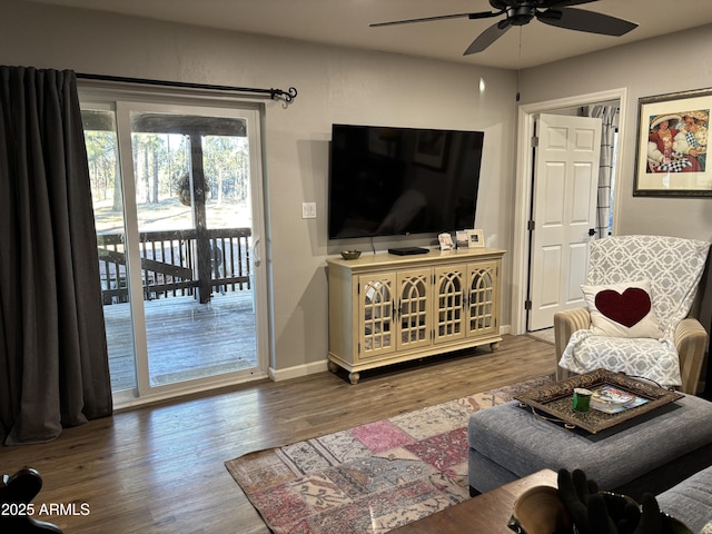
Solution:
[[(498, 19), (451, 19), (386, 28), (384, 22), (491, 11), (487, 0), (24, 0), (110, 11), (207, 28), (520, 69), (712, 23), (710, 0), (599, 0), (577, 9), (636, 22), (623, 37), (551, 27), (533, 20), (484, 52), (463, 56)], [(521, 41), (520, 41), (521, 39)], [(694, 53), (694, 51), (691, 51)]]

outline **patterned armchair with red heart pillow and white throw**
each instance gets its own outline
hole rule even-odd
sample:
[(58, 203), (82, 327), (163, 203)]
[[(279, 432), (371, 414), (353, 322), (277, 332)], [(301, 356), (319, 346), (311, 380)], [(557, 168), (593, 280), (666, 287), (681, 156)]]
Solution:
[(696, 394), (708, 333), (688, 315), (709, 248), (664, 236), (593, 241), (586, 307), (554, 316), (557, 378), (603, 367)]

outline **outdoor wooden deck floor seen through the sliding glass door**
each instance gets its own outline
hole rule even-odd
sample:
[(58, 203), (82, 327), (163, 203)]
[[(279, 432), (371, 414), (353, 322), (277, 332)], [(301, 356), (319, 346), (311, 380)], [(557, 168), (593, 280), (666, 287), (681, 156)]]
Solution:
[[(152, 385), (182, 382), (257, 366), (253, 291), (170, 297), (145, 304)], [(136, 386), (134, 334), (128, 304), (103, 307), (111, 389)]]

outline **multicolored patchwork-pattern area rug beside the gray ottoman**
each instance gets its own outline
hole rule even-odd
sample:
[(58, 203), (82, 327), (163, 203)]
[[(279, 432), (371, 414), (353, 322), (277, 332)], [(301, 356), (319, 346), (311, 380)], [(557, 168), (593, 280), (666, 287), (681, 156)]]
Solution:
[(469, 497), (469, 415), (553, 376), (225, 463), (277, 534), (379, 534)]

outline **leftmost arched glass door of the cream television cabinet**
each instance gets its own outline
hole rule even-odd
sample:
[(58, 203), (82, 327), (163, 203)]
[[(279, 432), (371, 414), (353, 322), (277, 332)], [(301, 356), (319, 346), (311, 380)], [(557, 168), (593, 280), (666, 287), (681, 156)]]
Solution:
[(394, 293), (395, 275), (378, 278), (359, 277), (360, 357), (372, 357), (395, 350)]

